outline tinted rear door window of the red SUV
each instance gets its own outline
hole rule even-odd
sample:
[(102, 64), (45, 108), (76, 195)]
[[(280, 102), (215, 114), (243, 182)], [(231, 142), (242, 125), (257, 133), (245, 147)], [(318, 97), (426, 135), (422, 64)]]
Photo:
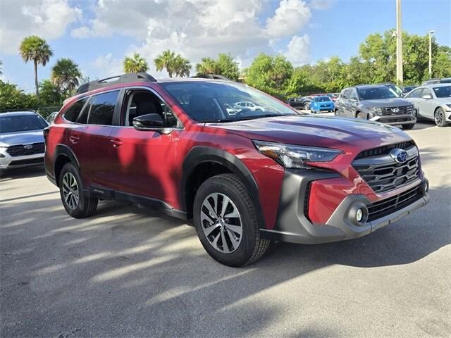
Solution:
[(111, 125), (119, 91), (95, 95), (91, 101), (88, 125)]

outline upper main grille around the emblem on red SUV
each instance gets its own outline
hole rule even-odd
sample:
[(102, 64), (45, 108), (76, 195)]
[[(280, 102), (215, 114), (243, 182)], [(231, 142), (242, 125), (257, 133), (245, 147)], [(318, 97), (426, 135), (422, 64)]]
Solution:
[(387, 154), (393, 148), (395, 146), (388, 146), (387, 149), (385, 147), (371, 149), (378, 155), (364, 156), (352, 162), (352, 166), (376, 194), (402, 187), (419, 177), (418, 149), (409, 148), (407, 161), (397, 163)]

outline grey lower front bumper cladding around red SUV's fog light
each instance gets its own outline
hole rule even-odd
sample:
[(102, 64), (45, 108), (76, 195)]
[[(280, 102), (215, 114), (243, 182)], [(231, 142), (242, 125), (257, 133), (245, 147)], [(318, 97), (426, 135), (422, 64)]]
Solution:
[[(373, 204), (364, 194), (350, 194), (335, 208), (326, 224), (311, 223), (307, 216), (306, 207), (308, 206), (310, 183), (314, 180), (337, 176), (338, 174), (327, 171), (307, 173), (307, 175), (304, 175), (304, 173), (299, 175), (297, 170), (285, 172), (276, 225), (271, 230), (261, 229), (261, 236), (280, 242), (300, 244), (319, 244), (354, 239), (409, 215), (409, 213), (428, 204), (429, 201), (428, 182), (425, 179), (415, 187), (419, 192), (418, 195), (409, 199), (400, 208), (396, 208), (393, 213), (381, 214), (381, 217), (368, 220), (368, 210), (373, 208)], [(356, 212), (359, 208), (363, 211), (361, 222), (357, 222), (356, 219)]]

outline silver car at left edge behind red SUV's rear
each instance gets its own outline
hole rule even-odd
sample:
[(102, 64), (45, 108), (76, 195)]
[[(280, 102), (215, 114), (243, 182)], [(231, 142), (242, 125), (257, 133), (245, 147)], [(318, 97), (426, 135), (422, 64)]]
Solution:
[(20, 111), (0, 113), (0, 169), (44, 163), (44, 128), (41, 115)]

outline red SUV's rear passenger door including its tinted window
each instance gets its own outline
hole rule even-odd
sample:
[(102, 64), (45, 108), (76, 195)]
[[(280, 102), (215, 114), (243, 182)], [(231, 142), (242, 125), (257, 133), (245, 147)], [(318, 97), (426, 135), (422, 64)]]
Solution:
[(106, 174), (111, 166), (110, 134), (113, 116), (118, 110), (120, 90), (92, 96), (78, 123), (84, 125), (72, 142), (76, 142), (75, 156), (87, 186), (106, 186)]

